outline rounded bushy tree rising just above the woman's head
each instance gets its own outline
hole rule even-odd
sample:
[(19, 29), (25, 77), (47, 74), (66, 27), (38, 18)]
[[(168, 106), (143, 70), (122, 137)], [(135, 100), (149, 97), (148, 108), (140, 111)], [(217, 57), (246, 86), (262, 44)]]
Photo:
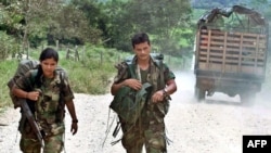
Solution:
[(75, 5), (63, 5), (54, 15), (49, 26), (49, 40), (62, 43), (83, 44), (85, 42), (99, 43), (101, 30), (88, 24), (85, 13)]

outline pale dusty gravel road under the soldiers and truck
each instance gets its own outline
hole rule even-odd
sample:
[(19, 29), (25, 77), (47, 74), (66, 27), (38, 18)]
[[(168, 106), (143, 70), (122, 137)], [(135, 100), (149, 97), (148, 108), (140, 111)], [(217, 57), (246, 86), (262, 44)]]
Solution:
[[(176, 74), (178, 92), (172, 95), (166, 117), (167, 135), (172, 141), (169, 153), (242, 153), (243, 135), (271, 135), (271, 104), (264, 97), (266, 91), (257, 95), (254, 106), (242, 106), (238, 97), (222, 93), (197, 103), (193, 98), (193, 73)], [(121, 143), (111, 145), (121, 136), (112, 137), (116, 122), (106, 138), (106, 129), (114, 120), (114, 113), (108, 113), (111, 100), (111, 94), (76, 94), (79, 131), (70, 135), (67, 114), (66, 153), (125, 153)], [(4, 124), (0, 126), (0, 153), (20, 152), (18, 115), (18, 110), (13, 109), (0, 115), (0, 124)]]

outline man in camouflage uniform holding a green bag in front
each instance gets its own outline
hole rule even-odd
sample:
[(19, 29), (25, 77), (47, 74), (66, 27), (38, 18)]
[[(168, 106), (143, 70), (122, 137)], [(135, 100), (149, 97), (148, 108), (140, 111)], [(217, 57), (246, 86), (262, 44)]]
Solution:
[(136, 54), (132, 60), (133, 71), (139, 78), (131, 78), (127, 64), (122, 62), (117, 66), (118, 75), (114, 79), (111, 92), (115, 95), (124, 86), (140, 90), (146, 81), (152, 85), (152, 92), (136, 124), (128, 124), (119, 117), (124, 133), (121, 142), (127, 153), (141, 153), (143, 145), (146, 153), (166, 153), (164, 117), (169, 107), (168, 98), (177, 91), (175, 75), (164, 63), (163, 68), (159, 68), (151, 56), (151, 43), (146, 34), (134, 35), (131, 42)]

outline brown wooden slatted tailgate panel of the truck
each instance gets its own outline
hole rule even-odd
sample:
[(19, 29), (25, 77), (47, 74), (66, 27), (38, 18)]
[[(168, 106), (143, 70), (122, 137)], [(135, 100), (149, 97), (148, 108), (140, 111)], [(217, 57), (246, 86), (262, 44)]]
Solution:
[(264, 73), (266, 35), (202, 29), (197, 37), (198, 69)]

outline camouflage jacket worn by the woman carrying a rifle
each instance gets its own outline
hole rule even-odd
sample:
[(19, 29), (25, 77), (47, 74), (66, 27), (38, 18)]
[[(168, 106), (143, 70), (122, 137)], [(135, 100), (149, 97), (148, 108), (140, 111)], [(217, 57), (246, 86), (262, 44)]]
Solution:
[(31, 69), (27, 72), (25, 76), (20, 77), (16, 80), (14, 86), (25, 91), (40, 91), (38, 101), (29, 103), (35, 103), (35, 117), (42, 126), (42, 129), (49, 129), (52, 124), (56, 123), (57, 106), (61, 94), (65, 103), (74, 99), (74, 93), (69, 87), (66, 73), (63, 73), (64, 75), (62, 75), (63, 85), (60, 87), (61, 75), (57, 71), (55, 71), (54, 78), (52, 79), (46, 78), (41, 75), (41, 87), (37, 87), (35, 82), (33, 82), (33, 75), (37, 74), (37, 71), (38, 69)]

